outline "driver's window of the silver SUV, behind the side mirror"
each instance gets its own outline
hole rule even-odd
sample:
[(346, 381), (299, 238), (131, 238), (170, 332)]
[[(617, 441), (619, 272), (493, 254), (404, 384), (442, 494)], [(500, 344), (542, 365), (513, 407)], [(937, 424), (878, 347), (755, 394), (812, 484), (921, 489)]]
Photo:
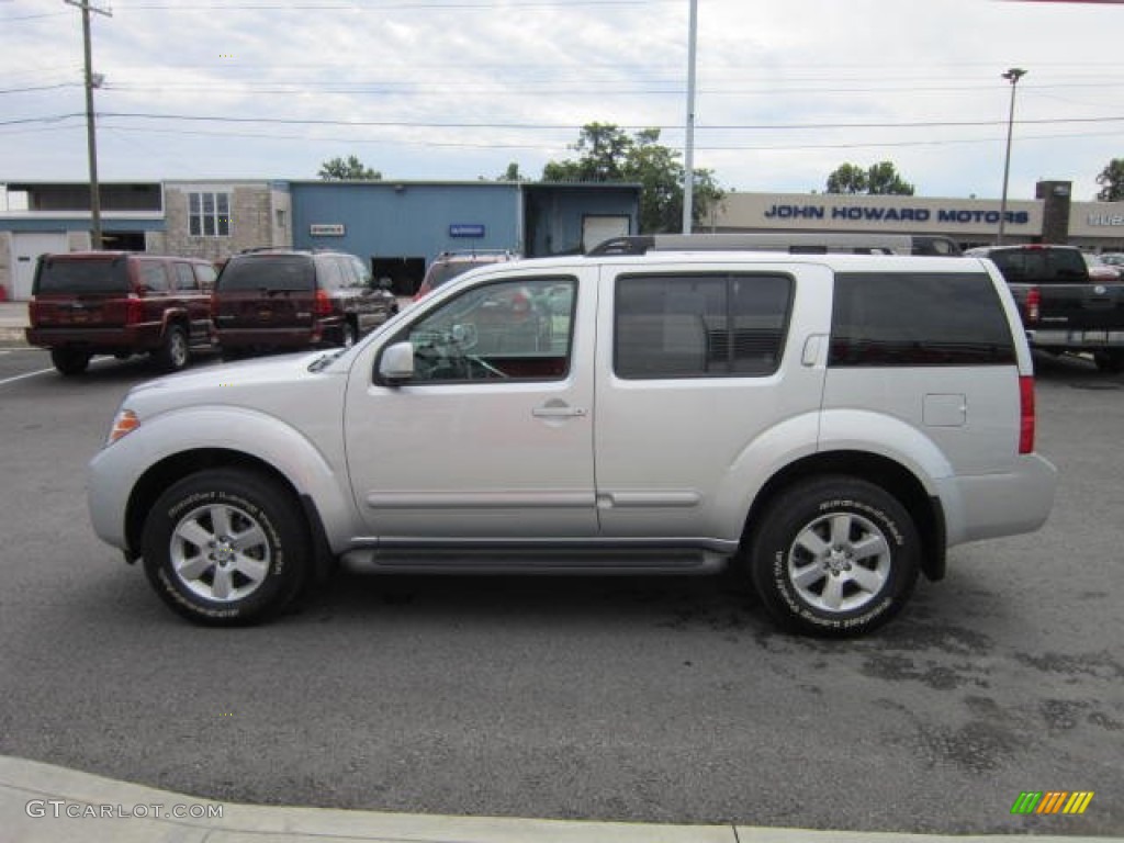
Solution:
[(534, 278), (483, 284), (406, 329), (415, 382), (560, 380), (570, 370), (577, 281)]

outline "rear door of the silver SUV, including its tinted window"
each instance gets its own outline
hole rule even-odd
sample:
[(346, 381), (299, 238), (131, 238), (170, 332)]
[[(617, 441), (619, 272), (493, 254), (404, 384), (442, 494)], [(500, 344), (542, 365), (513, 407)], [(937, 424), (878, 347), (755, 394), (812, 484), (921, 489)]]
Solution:
[[(605, 268), (597, 497), (613, 537), (736, 542), (759, 446), (816, 444), (831, 274), (816, 264)], [(799, 326), (799, 327), (797, 327)], [(817, 338), (818, 337), (818, 338)], [(807, 352), (805, 351), (807, 350)], [(823, 353), (817, 353), (817, 352)]]

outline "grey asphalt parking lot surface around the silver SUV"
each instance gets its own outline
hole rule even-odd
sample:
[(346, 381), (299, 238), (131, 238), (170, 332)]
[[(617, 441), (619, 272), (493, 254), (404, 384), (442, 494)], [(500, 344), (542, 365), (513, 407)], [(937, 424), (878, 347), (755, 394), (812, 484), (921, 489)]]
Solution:
[[(1046, 527), (955, 549), (885, 631), (826, 643), (728, 577), (344, 571), (280, 623), (192, 627), (84, 509), (151, 370), (0, 352), (0, 754), (264, 805), (1124, 835), (1124, 378), (1037, 365)], [(1095, 797), (1013, 815), (1027, 790)]]

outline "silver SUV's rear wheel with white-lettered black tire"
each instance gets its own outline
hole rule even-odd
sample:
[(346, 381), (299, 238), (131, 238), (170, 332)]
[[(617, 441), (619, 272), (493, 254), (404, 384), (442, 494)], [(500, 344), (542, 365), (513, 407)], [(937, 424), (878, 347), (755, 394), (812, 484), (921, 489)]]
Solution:
[(780, 493), (750, 542), (750, 575), (769, 613), (823, 637), (870, 632), (897, 615), (917, 582), (921, 541), (898, 500), (851, 477)]

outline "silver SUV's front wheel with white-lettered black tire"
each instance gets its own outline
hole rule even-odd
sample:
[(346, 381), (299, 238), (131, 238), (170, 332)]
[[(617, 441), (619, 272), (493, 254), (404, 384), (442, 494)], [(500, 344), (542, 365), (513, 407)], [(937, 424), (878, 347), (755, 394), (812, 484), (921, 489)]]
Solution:
[(145, 519), (142, 551), (164, 602), (209, 626), (278, 615), (311, 570), (296, 499), (275, 481), (237, 469), (191, 474), (161, 495)]

